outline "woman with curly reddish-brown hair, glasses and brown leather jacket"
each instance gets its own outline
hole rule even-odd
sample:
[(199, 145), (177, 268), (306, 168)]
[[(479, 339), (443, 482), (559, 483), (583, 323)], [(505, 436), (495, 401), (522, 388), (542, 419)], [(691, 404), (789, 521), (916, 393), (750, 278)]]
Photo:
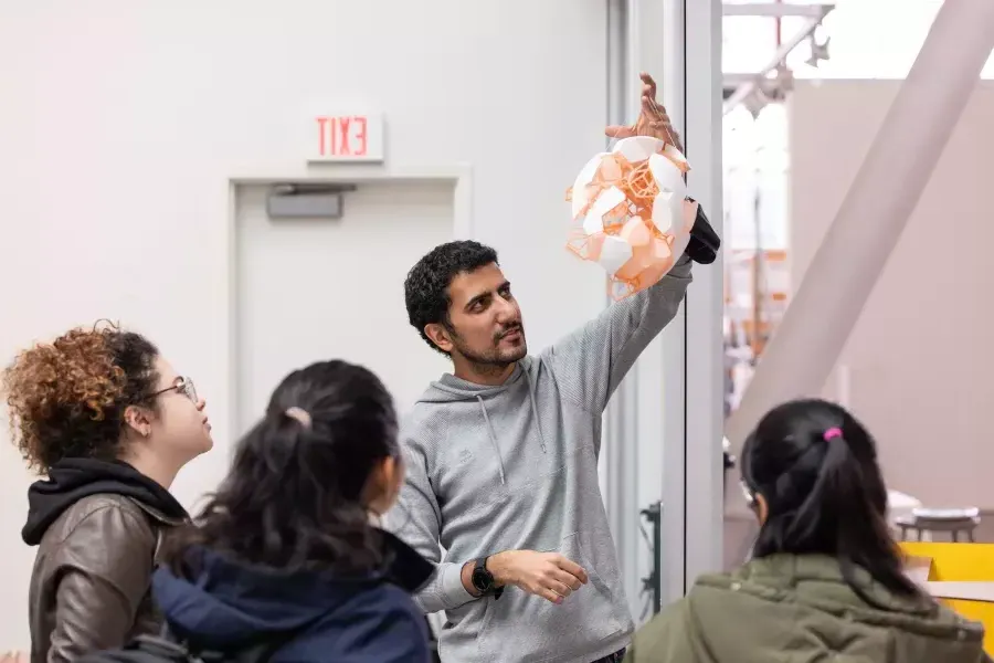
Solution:
[(46, 478), (28, 492), (31, 661), (74, 661), (158, 630), (149, 593), (169, 493), (211, 448), (204, 402), (145, 337), (77, 328), (2, 375), (14, 443)]

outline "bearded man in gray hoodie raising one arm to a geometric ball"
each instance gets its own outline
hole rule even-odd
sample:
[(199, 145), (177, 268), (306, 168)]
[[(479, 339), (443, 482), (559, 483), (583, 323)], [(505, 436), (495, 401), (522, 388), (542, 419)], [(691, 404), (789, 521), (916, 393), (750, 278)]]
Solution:
[(410, 322), (454, 370), (405, 419), (406, 481), (388, 524), (437, 566), (416, 598), (445, 611), (443, 661), (621, 661), (634, 622), (598, 484), (601, 417), (689, 283), (684, 255), (529, 356), (493, 249), (451, 242), (411, 270)]

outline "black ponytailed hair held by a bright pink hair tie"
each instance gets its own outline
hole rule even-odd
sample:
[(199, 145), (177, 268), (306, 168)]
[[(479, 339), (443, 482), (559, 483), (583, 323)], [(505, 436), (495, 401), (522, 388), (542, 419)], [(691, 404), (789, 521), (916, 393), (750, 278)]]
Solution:
[(877, 608), (857, 582), (857, 568), (896, 594), (923, 598), (905, 576), (887, 525), (876, 444), (844, 408), (810, 399), (771, 410), (742, 449), (742, 478), (768, 507), (755, 557), (831, 555), (849, 587)]

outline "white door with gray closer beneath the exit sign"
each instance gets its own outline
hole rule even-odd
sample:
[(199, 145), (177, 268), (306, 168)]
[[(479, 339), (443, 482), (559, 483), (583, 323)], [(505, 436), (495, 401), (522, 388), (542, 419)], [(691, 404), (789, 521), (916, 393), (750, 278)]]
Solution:
[(237, 191), (237, 435), (292, 370), (340, 358), (374, 371), (399, 413), (450, 370), (408, 323), (404, 277), (453, 238), (453, 186), (360, 185), (337, 220), (276, 220), (267, 186)]

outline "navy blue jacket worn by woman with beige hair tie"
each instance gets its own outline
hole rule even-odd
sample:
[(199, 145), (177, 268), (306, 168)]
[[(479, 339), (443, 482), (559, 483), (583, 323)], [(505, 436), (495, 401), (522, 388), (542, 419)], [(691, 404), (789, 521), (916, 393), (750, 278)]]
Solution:
[(429, 663), (427, 627), (410, 594), (434, 567), (393, 535), (383, 537), (390, 564), (364, 579), (277, 572), (200, 549), (195, 578), (161, 568), (152, 590), (170, 629), (194, 648), (232, 651), (303, 628), (274, 663)]

